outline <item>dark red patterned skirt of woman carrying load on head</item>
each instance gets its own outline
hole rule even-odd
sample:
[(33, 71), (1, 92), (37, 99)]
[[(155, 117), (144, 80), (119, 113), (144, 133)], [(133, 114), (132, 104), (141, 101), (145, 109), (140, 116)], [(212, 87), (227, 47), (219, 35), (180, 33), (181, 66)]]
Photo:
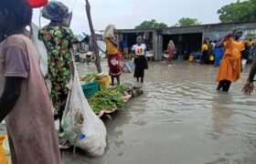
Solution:
[(118, 77), (121, 75), (121, 59), (119, 54), (109, 55), (108, 64), (110, 67), (110, 76)]

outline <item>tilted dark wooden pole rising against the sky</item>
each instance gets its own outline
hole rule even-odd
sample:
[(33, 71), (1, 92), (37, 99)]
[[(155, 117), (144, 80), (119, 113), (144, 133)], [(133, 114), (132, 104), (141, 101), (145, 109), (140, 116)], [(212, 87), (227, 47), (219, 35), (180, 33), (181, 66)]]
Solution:
[(86, 2), (86, 7), (85, 7), (86, 14), (87, 14), (87, 17), (88, 17), (88, 22), (89, 22), (89, 26), (90, 26), (90, 30), (91, 30), (92, 48), (93, 48), (93, 53), (94, 53), (94, 55), (96, 57), (95, 65), (97, 67), (98, 73), (101, 73), (102, 72), (102, 69), (101, 69), (101, 57), (99, 55), (99, 48), (98, 48), (98, 45), (97, 45), (93, 24), (92, 24), (92, 21), (91, 21), (91, 5), (89, 3), (89, 0), (85, 0), (85, 2)]

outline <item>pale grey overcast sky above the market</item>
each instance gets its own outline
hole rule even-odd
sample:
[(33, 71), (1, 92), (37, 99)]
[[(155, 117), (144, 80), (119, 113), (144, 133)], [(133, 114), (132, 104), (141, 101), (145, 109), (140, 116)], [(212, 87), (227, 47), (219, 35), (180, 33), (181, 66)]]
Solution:
[[(89, 32), (84, 0), (60, 0), (73, 11), (71, 28), (76, 34)], [(133, 28), (144, 20), (156, 19), (173, 26), (181, 17), (197, 18), (203, 24), (218, 23), (218, 9), (237, 0), (90, 0), (94, 28), (109, 24), (117, 28)], [(38, 10), (34, 22), (38, 24)], [(43, 24), (45, 22), (43, 21)]]

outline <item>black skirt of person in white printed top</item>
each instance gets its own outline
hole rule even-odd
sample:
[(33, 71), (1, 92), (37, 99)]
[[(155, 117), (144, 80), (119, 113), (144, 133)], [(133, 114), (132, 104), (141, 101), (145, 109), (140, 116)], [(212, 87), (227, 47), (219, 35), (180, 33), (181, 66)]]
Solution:
[(147, 69), (147, 60), (145, 56), (136, 56), (134, 59), (135, 71), (133, 77), (144, 77), (144, 69)]

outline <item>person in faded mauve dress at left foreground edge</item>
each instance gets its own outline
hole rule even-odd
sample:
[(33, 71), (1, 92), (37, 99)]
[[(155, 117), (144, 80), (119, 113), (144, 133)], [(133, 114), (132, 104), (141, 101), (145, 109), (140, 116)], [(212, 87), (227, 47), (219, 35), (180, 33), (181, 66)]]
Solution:
[(25, 35), (31, 17), (27, 1), (0, 1), (0, 122), (5, 118), (12, 164), (60, 164), (48, 88)]

